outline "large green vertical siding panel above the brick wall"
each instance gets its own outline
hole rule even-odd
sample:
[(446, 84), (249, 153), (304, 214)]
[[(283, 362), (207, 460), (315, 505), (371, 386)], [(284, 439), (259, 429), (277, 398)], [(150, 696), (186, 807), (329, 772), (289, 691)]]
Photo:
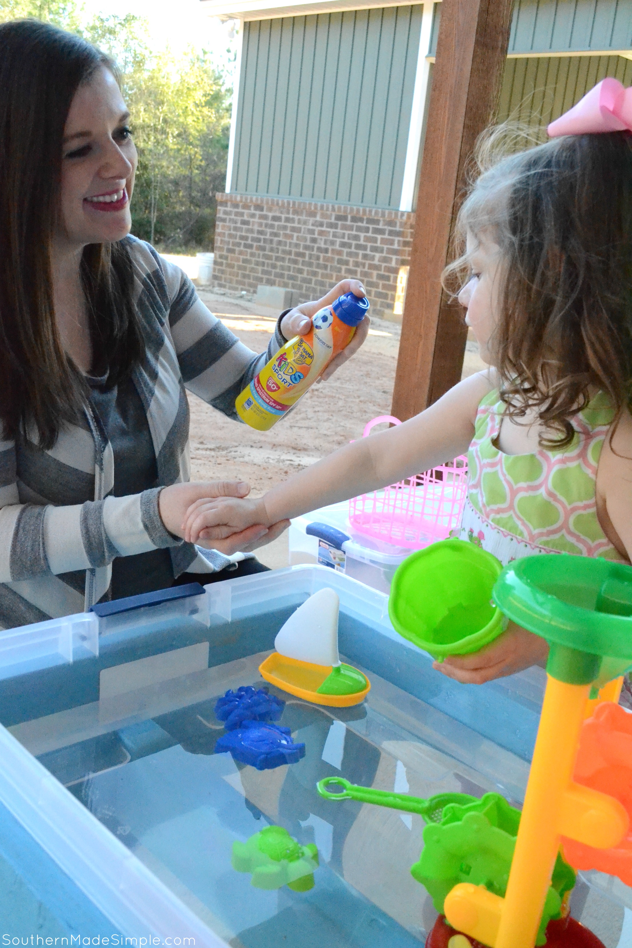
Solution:
[(421, 5), (244, 24), (231, 191), (399, 208)]

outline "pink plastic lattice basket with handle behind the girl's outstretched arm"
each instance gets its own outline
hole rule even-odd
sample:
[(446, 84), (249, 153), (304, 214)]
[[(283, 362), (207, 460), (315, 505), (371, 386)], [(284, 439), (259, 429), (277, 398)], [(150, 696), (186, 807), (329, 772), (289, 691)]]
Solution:
[[(385, 421), (402, 424), (392, 415), (380, 415), (369, 422), (363, 437)], [(460, 455), (384, 490), (352, 498), (349, 520), (354, 530), (367, 537), (422, 550), (435, 540), (445, 539), (459, 524), (466, 492), (467, 458)]]

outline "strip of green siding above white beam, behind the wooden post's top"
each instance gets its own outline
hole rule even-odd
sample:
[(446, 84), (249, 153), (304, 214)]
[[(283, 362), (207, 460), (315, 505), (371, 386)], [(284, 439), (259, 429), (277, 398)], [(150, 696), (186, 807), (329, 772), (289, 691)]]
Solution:
[[(430, 54), (437, 51), (436, 4)], [(630, 0), (515, 0), (509, 53), (606, 52), (632, 47)]]

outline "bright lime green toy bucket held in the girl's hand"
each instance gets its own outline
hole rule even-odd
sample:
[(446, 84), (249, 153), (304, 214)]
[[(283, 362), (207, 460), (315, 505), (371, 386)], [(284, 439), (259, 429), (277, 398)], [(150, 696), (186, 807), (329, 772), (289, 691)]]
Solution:
[(496, 556), (461, 539), (443, 539), (407, 556), (390, 586), (393, 628), (441, 661), (479, 651), (505, 625), (492, 601), (501, 570)]

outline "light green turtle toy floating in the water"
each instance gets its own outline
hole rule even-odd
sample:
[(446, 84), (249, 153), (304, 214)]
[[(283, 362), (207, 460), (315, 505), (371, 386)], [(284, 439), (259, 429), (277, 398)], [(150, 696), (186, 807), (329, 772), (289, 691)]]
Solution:
[(299, 846), (283, 827), (266, 827), (245, 843), (232, 846), (232, 866), (238, 872), (251, 872), (255, 888), (278, 889), (282, 885), (295, 892), (314, 888), (314, 870), (318, 850), (313, 843)]

